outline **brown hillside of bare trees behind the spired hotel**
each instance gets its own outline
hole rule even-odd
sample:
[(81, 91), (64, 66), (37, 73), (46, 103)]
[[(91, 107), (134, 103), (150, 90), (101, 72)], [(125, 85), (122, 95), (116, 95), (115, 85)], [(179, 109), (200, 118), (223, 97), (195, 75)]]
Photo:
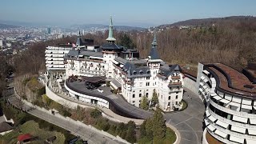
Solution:
[[(198, 26), (193, 29), (170, 28), (158, 31), (158, 52), (162, 59), (170, 63), (196, 66), (198, 62), (222, 62), (237, 69), (247, 62), (256, 61), (256, 21), (255, 18), (219, 22), (215, 26)], [(222, 19), (222, 18), (220, 18)], [(106, 42), (106, 33), (86, 34), (84, 38), (94, 38), (99, 46)], [(150, 32), (114, 32), (117, 43), (132, 47), (146, 58), (150, 52), (153, 34)], [(30, 47), (14, 58), (18, 73), (36, 72), (44, 69), (46, 46), (75, 42), (75, 37), (42, 42)], [(25, 66), (24, 66), (25, 65)]]

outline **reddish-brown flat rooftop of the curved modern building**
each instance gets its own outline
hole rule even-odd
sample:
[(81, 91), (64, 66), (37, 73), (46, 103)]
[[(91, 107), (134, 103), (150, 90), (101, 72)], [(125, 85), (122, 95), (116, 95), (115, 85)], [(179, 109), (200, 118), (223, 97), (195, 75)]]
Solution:
[(222, 63), (206, 64), (205, 66), (218, 76), (218, 86), (222, 90), (239, 96), (256, 98), (256, 84), (250, 82), (246, 75)]

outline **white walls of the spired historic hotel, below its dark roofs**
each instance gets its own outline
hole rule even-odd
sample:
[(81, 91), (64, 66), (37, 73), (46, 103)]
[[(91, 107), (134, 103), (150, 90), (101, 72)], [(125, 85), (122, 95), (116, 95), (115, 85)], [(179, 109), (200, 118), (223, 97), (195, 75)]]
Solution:
[[(182, 108), (183, 95), (183, 78), (180, 71), (175, 71), (168, 78), (161, 78), (160, 62), (147, 62), (150, 65), (148, 76), (141, 74), (134, 75), (133, 78), (128, 78), (127, 74), (122, 70), (124, 65), (121, 62), (114, 60), (116, 54), (105, 54), (103, 57), (80, 57), (66, 58), (66, 78), (70, 75), (78, 76), (106, 76), (113, 78), (121, 86), (120, 94), (127, 102), (134, 106), (140, 105), (143, 96), (149, 100), (152, 99), (153, 91), (158, 94), (159, 106), (162, 110), (171, 111)], [(132, 61), (127, 61), (132, 62)], [(110, 82), (114, 89), (118, 86), (114, 82)]]

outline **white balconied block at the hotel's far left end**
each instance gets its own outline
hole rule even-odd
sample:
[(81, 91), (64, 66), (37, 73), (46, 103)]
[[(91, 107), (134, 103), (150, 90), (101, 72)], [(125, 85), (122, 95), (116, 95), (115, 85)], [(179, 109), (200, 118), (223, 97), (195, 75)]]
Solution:
[(46, 70), (65, 70), (64, 55), (68, 54), (72, 47), (46, 47)]

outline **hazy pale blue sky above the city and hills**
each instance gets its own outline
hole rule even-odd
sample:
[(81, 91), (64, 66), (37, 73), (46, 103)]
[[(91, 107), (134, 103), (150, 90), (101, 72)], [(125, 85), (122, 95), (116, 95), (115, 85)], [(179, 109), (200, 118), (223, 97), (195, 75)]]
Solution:
[(191, 18), (256, 15), (256, 0), (1, 0), (0, 20), (58, 25), (157, 26)]

